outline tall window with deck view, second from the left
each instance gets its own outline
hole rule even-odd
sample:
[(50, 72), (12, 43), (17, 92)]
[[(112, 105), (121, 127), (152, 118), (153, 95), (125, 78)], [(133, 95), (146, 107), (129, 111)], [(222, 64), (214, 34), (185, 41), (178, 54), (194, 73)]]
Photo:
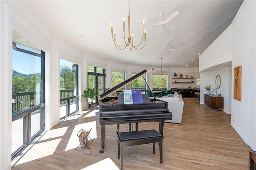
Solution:
[(60, 59), (60, 119), (78, 111), (78, 65)]

